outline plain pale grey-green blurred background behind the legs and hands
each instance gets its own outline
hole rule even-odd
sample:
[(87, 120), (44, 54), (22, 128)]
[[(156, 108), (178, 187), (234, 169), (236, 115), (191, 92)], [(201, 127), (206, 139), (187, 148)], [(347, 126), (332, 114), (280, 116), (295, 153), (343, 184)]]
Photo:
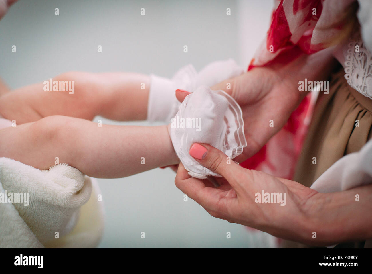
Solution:
[[(233, 58), (247, 67), (269, 27), (272, 5), (273, 0), (19, 0), (0, 21), (0, 77), (15, 89), (69, 70), (170, 78), (186, 64), (199, 71), (210, 62)], [(167, 168), (98, 179), (106, 212), (99, 247), (275, 247), (269, 234), (214, 218), (191, 199), (183, 201), (174, 177)]]

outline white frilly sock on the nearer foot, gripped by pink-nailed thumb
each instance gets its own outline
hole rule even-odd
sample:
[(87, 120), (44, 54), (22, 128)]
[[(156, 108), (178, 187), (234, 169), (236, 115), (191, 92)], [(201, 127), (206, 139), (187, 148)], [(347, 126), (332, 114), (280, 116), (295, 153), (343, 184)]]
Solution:
[(209, 144), (233, 159), (247, 145), (243, 128), (241, 108), (230, 95), (224, 91), (211, 91), (208, 86), (200, 86), (186, 96), (176, 116), (171, 119), (170, 138), (189, 174), (205, 179), (208, 175), (220, 175), (203, 167), (190, 156), (191, 145)]

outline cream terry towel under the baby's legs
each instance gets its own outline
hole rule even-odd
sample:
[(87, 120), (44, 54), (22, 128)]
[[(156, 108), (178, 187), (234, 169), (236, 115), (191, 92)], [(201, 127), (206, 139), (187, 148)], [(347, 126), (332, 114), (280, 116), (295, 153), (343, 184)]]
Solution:
[[(0, 248), (94, 248), (103, 233), (95, 179), (58, 164), (35, 169), (0, 158), (0, 195), (29, 193), (29, 205), (0, 202)], [(1, 197), (0, 197), (1, 199)], [(27, 203), (26, 203), (27, 204)], [(55, 239), (55, 232), (59, 239)]]

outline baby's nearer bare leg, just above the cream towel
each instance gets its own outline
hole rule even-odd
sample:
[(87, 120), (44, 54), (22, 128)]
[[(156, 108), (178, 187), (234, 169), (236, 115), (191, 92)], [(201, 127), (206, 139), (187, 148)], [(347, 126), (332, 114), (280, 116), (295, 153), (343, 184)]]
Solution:
[(99, 178), (179, 163), (166, 126), (98, 126), (67, 116), (0, 130), (0, 157), (38, 169), (49, 169), (58, 157), (59, 163)]

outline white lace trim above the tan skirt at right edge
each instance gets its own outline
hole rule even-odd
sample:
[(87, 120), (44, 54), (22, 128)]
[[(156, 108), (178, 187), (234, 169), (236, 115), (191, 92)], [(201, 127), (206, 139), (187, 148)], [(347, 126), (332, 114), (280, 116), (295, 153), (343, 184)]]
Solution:
[(345, 79), (353, 89), (372, 99), (372, 55), (361, 39), (349, 42), (348, 47)]

